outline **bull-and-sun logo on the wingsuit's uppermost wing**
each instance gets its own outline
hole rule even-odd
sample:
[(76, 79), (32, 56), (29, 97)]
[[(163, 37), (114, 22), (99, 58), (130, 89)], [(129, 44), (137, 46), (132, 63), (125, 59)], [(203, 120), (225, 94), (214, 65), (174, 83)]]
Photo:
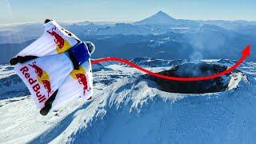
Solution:
[[(61, 30), (59, 30), (62, 32)], [(70, 49), (70, 43), (67, 42), (64, 38), (62, 38), (61, 34), (58, 34), (57, 27), (54, 26), (54, 28), (50, 30), (47, 30), (47, 33), (54, 37), (54, 42), (56, 43), (56, 51), (58, 53), (63, 53), (66, 50)]]

